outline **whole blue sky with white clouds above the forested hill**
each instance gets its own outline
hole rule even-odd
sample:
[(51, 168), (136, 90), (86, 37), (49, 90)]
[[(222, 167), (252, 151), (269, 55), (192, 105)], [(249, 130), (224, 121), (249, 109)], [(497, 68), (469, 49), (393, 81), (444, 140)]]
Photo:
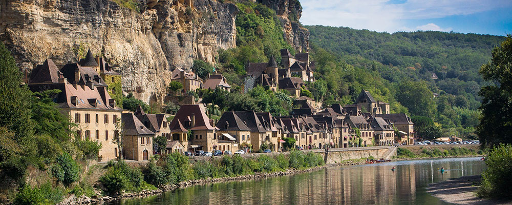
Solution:
[(394, 33), (512, 33), (512, 0), (300, 0), (303, 25)]

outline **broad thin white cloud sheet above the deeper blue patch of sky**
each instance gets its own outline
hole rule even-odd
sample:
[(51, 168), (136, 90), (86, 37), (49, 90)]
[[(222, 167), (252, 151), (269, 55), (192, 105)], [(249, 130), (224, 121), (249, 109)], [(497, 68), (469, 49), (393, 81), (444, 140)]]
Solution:
[[(305, 25), (344, 26), (375, 31), (410, 31), (408, 20), (468, 15), (512, 6), (509, 0), (409, 0), (390, 4), (389, 0), (301, 0)], [(426, 24), (416, 29), (451, 30)]]

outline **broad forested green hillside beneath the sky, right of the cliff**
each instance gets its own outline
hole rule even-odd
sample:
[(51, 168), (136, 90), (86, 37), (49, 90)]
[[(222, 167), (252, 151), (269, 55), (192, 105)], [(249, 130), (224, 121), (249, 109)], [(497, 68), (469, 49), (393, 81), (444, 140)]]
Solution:
[[(328, 82), (328, 90), (337, 91), (331, 98), (348, 103), (361, 88), (367, 89), (377, 99), (390, 101), (394, 112), (408, 110), (420, 135), (429, 130), (474, 136), (478, 92), (486, 84), (478, 71), (504, 36), (306, 28), (318, 78)], [(432, 99), (434, 93), (439, 96)], [(434, 129), (434, 122), (442, 130)]]

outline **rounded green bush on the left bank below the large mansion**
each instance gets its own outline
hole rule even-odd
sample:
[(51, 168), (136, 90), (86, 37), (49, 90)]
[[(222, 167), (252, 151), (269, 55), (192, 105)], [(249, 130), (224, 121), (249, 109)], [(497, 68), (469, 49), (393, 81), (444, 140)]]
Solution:
[(80, 178), (79, 173), (80, 167), (70, 154), (65, 152), (55, 159), (52, 175), (57, 178), (57, 181), (69, 186)]

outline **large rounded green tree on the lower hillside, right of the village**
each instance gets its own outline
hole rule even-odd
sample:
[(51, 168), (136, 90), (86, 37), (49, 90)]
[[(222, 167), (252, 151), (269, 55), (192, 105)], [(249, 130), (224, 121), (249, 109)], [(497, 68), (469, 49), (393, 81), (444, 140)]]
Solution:
[(424, 81), (402, 83), (398, 91), (398, 101), (413, 115), (434, 117), (436, 111), (434, 94)]

